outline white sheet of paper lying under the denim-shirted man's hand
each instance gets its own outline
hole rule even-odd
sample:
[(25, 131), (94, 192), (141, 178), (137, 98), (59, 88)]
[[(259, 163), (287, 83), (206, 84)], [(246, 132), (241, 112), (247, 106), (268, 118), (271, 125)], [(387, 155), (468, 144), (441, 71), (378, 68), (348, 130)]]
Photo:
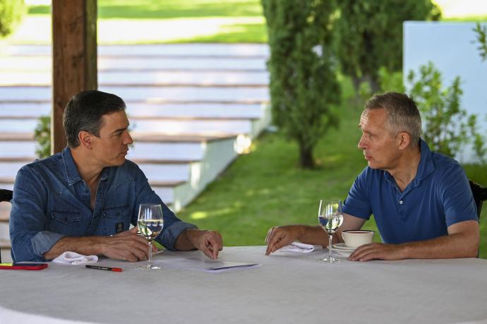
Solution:
[(224, 260), (211, 260), (209, 258), (167, 258), (165, 260), (153, 260), (152, 262), (167, 268), (212, 273), (260, 267), (258, 263), (229, 262)]

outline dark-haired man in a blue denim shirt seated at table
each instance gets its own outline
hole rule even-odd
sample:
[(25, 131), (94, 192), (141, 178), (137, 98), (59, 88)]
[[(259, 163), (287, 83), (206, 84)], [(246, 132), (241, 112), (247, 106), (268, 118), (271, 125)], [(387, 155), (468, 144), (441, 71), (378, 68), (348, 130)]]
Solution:
[(120, 97), (79, 92), (68, 102), (63, 124), (68, 146), (17, 174), (10, 219), (13, 260), (52, 260), (65, 251), (145, 260), (148, 241), (136, 227), (129, 229), (143, 203), (162, 205), (160, 244), (169, 250), (198, 248), (217, 258), (222, 236), (181, 222), (137, 164), (125, 159), (132, 138)]

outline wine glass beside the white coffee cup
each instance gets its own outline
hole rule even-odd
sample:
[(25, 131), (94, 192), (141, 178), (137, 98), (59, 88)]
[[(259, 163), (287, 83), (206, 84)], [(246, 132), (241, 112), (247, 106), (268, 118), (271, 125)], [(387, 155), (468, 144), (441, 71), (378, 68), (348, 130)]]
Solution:
[(332, 239), (333, 234), (343, 222), (342, 201), (341, 200), (320, 200), (320, 209), (318, 210), (318, 224), (328, 234), (328, 258), (318, 260), (325, 263), (339, 263), (332, 257)]

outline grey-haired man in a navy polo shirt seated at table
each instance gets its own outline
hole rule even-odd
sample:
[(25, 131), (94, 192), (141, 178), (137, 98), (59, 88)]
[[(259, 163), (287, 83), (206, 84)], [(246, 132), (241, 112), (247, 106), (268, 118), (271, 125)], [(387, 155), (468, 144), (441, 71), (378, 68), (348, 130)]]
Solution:
[[(457, 161), (421, 140), (421, 117), (407, 95), (386, 92), (366, 103), (359, 149), (368, 162), (344, 201), (341, 232), (374, 215), (383, 244), (356, 248), (349, 260), (470, 258), (479, 249), (479, 219), (467, 176)], [(266, 254), (299, 240), (327, 246), (318, 226), (272, 227)]]

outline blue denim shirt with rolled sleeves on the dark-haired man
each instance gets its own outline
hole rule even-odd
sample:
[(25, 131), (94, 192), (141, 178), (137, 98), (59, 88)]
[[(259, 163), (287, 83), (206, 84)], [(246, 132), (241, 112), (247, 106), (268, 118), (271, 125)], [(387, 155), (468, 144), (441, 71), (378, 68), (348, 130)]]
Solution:
[(136, 225), (142, 203), (160, 203), (164, 228), (156, 241), (174, 250), (185, 229), (196, 228), (181, 222), (152, 191), (137, 164), (126, 160), (120, 167), (102, 170), (95, 207), (90, 208), (90, 188), (81, 179), (71, 150), (22, 167), (13, 187), (10, 239), (14, 261), (44, 261), (64, 236), (109, 236)]

